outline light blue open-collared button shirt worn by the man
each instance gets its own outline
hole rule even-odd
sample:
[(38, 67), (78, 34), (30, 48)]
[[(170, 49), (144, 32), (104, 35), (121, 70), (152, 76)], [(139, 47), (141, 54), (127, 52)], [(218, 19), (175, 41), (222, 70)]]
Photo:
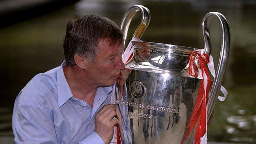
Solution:
[[(73, 97), (63, 73), (65, 65), (36, 75), (18, 94), (12, 117), (17, 144), (104, 144), (94, 132), (94, 116), (110, 104), (113, 88), (98, 87), (91, 108)], [(122, 117), (124, 143), (130, 143), (130, 122)]]

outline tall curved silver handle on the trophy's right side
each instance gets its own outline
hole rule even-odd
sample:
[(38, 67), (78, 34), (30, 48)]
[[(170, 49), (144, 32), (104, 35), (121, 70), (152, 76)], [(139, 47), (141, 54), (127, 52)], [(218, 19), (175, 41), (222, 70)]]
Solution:
[(213, 112), (219, 89), (222, 84), (222, 79), (224, 76), (224, 72), (226, 69), (227, 61), (228, 61), (228, 56), (229, 56), (229, 47), (230, 47), (230, 32), (229, 32), (229, 24), (226, 20), (226, 18), (218, 13), (218, 12), (210, 12), (206, 14), (203, 17), (202, 21), (202, 28), (203, 28), (203, 38), (204, 38), (204, 53), (210, 55), (211, 52), (211, 41), (210, 41), (210, 22), (214, 19), (217, 18), (221, 24), (222, 27), (222, 44), (221, 44), (221, 51), (219, 55), (219, 64), (217, 67), (216, 71), (216, 77), (213, 81), (213, 85), (210, 89), (209, 93), (209, 100), (207, 103), (207, 117), (208, 121), (210, 119), (210, 116)]

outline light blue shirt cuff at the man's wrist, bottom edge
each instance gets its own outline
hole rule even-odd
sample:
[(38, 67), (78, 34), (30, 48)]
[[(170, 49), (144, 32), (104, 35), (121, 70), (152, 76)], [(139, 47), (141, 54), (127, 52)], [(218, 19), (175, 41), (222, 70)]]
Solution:
[(79, 144), (105, 144), (98, 133), (93, 132), (83, 139)]

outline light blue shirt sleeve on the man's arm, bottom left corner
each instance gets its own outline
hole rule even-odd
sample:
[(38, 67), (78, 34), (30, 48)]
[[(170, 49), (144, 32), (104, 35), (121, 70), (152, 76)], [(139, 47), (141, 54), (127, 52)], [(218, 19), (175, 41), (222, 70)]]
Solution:
[(53, 120), (40, 107), (18, 105), (12, 126), (16, 144), (58, 144)]

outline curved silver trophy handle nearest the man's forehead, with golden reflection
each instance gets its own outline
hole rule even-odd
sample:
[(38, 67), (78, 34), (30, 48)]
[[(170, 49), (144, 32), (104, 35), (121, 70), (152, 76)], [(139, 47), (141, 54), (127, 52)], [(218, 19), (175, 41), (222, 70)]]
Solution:
[(130, 22), (132, 21), (133, 16), (137, 13), (137, 11), (140, 11), (142, 13), (142, 18), (139, 23), (139, 26), (137, 27), (137, 29), (135, 30), (135, 32), (133, 34), (133, 38), (137, 37), (140, 39), (143, 32), (146, 30), (146, 28), (149, 25), (150, 11), (148, 8), (146, 8), (142, 5), (134, 5), (134, 6), (130, 7), (124, 14), (121, 24), (120, 24), (120, 28), (123, 31), (123, 36), (124, 36), (124, 42), (123, 42), (124, 46), (126, 46), (126, 38), (127, 38), (127, 33), (128, 33), (129, 26), (130, 26)]

